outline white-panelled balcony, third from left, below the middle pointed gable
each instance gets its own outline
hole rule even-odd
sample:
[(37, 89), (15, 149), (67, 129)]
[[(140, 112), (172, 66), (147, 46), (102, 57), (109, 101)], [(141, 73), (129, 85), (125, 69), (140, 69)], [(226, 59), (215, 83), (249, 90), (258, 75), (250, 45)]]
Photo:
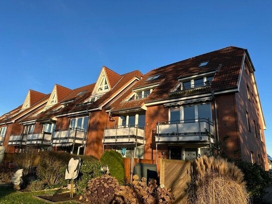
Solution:
[(79, 128), (69, 128), (55, 130), (52, 136), (53, 146), (70, 146), (73, 144), (86, 143), (86, 130)]

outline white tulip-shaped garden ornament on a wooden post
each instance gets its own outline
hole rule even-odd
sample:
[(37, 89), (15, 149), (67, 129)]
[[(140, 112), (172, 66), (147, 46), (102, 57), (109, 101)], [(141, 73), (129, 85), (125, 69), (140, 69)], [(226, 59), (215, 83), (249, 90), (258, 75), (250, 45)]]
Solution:
[(74, 179), (78, 177), (80, 169), (80, 158), (71, 158), (68, 163), (68, 169), (65, 170), (65, 179), (71, 179), (71, 197), (74, 194)]

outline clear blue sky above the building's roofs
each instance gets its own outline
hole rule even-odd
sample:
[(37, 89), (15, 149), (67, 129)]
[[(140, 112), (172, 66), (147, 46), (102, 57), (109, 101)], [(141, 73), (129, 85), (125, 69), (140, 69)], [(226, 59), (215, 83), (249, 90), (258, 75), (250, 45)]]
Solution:
[[(227, 46), (248, 49), (272, 155), (272, 1), (1, 1), (0, 114), (29, 89), (94, 83), (103, 65), (123, 74)], [(270, 90), (269, 90), (270, 89)]]

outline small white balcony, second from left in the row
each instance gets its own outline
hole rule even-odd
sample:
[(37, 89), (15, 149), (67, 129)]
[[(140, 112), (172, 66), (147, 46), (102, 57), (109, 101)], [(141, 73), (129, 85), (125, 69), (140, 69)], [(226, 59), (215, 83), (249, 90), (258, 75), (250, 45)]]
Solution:
[(37, 132), (27, 134), (26, 144), (30, 145), (51, 145), (51, 136), (50, 132)]

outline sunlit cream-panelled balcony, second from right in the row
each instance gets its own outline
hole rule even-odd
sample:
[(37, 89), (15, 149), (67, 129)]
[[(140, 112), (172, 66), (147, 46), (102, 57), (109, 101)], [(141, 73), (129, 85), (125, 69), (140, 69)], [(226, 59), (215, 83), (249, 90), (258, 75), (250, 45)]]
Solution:
[(104, 131), (104, 144), (132, 143), (145, 144), (144, 128), (138, 125), (106, 127)]

